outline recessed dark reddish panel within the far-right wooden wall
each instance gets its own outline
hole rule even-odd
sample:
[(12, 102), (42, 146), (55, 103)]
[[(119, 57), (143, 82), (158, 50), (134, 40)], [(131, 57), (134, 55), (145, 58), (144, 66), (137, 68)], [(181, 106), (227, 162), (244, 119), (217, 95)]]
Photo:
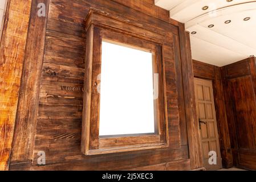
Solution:
[(255, 150), (255, 97), (250, 76), (229, 80), (239, 148)]

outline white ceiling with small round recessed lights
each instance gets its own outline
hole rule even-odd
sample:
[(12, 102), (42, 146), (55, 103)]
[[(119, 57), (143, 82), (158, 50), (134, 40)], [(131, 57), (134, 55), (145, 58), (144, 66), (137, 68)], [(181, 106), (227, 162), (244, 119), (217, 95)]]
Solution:
[[(190, 34), (192, 57), (224, 66), (256, 56), (256, 1), (155, 0), (170, 11), (170, 18), (185, 23)], [(208, 6), (207, 10), (202, 7)], [(243, 19), (250, 17), (250, 20)], [(224, 23), (231, 20), (229, 24)], [(209, 28), (210, 24), (214, 27)]]

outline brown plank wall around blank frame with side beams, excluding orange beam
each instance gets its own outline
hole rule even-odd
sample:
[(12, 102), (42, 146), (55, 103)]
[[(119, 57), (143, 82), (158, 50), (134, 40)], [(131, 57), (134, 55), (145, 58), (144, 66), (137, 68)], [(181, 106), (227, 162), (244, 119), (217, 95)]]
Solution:
[[(46, 17), (36, 16), (39, 2)], [(194, 103), (189, 34), (153, 0), (32, 1), (10, 169), (197, 169), (202, 167)], [(165, 64), (170, 146), (165, 149), (82, 155), (81, 129), (86, 32), (93, 7), (135, 26), (168, 31), (173, 52)], [(184, 84), (182, 84), (184, 83)], [(38, 151), (46, 165), (38, 166)]]

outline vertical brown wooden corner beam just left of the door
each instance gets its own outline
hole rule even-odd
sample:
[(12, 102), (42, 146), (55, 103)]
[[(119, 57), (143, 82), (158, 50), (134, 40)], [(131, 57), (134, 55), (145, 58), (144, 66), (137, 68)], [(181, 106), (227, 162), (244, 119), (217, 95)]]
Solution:
[(185, 25), (179, 24), (178, 28), (181, 49), (181, 74), (184, 90), (185, 116), (188, 131), (189, 158), (191, 169), (203, 167), (200, 143), (200, 130), (197, 121), (196, 98), (194, 94), (194, 73), (192, 66), (192, 53), (189, 32)]

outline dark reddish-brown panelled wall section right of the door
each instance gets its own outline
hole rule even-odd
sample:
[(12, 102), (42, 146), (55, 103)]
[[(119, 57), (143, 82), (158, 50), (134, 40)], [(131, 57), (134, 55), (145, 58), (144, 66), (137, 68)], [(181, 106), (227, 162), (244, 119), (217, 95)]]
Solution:
[(221, 68), (234, 165), (256, 169), (255, 57)]

